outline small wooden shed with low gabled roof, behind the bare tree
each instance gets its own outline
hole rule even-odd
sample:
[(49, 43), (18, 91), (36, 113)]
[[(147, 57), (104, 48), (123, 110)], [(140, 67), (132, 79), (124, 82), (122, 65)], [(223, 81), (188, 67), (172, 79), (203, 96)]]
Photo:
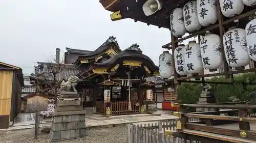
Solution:
[(53, 98), (52, 95), (34, 93), (25, 96), (24, 98), (27, 100), (26, 112), (35, 112), (36, 109), (38, 111), (46, 111), (48, 105), (48, 99)]

